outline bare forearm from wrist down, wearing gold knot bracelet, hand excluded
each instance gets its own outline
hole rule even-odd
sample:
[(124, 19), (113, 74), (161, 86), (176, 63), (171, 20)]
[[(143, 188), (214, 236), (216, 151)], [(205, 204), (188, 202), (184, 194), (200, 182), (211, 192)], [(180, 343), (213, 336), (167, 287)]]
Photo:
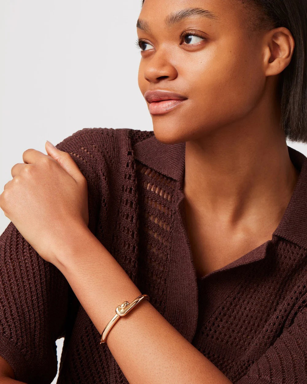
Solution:
[[(74, 232), (67, 249), (59, 252), (56, 267), (99, 334), (116, 306), (146, 293), (89, 230)], [(147, 300), (117, 321), (106, 343), (130, 384), (231, 383)]]

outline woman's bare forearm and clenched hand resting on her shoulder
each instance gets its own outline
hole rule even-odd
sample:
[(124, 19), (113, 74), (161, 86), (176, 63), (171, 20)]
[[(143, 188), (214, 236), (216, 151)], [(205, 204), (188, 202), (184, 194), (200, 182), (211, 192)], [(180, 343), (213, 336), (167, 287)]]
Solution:
[[(46, 151), (23, 152), (25, 164), (13, 166), (0, 207), (36, 253), (63, 273), (101, 334), (119, 304), (146, 292), (89, 229), (92, 198), (77, 164), (68, 152), (47, 144)], [(117, 321), (107, 346), (130, 384), (230, 383), (148, 301)]]

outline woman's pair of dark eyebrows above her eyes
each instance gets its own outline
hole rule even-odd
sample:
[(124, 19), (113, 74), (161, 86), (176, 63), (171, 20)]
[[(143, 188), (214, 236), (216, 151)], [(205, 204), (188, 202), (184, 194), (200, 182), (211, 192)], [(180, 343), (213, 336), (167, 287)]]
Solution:
[[(185, 8), (176, 12), (170, 13), (164, 20), (166, 26), (171, 27), (174, 24), (181, 22), (183, 19), (193, 16), (205, 17), (208, 19), (219, 20), (213, 12), (208, 9), (202, 8)], [(137, 20), (137, 28), (145, 31), (146, 33), (151, 33), (149, 23), (146, 20)]]

